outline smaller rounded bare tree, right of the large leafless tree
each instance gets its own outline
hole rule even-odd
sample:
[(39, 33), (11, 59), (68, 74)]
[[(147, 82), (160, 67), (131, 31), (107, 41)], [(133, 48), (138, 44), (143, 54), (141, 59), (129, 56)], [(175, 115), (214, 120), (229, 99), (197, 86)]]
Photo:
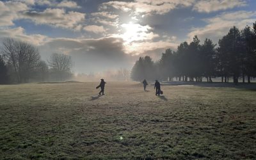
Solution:
[(63, 78), (70, 76), (72, 68), (71, 56), (62, 53), (53, 53), (48, 63), (51, 69), (58, 75), (58, 79), (61, 81)]

